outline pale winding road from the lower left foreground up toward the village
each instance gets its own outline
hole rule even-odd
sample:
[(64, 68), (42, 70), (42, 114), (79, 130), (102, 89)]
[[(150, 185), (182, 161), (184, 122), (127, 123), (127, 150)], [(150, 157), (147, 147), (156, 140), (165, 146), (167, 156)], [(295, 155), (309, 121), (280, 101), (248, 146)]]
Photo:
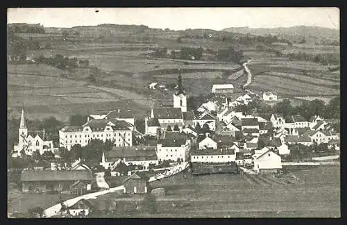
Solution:
[[(178, 174), (179, 172), (183, 172), (183, 170), (185, 170), (188, 166), (189, 166), (189, 163), (185, 162), (185, 163), (182, 163), (180, 165), (176, 165), (174, 167), (171, 167), (171, 169), (164, 174), (158, 174), (155, 176), (151, 176), (151, 178), (149, 178), (149, 182), (158, 181), (162, 178), (167, 178), (167, 177), (172, 176), (174, 174)], [(69, 206), (73, 206), (76, 202), (80, 201), (81, 199), (95, 199), (96, 197), (98, 197), (100, 195), (108, 194), (108, 193), (112, 193), (112, 192), (117, 192), (117, 191), (123, 190), (123, 189), (124, 189), (124, 185), (120, 185), (116, 188), (110, 188), (108, 190), (103, 190), (103, 191), (99, 191), (99, 192), (81, 195), (81, 196), (76, 197), (74, 199), (69, 199), (67, 201), (64, 201), (63, 204), (65, 206), (69, 207)], [(54, 215), (58, 215), (58, 213), (60, 213), (61, 208), (62, 208), (62, 206), (60, 203), (56, 204), (55, 206), (51, 206), (50, 208), (46, 208), (44, 210), (44, 217), (53, 217)]]

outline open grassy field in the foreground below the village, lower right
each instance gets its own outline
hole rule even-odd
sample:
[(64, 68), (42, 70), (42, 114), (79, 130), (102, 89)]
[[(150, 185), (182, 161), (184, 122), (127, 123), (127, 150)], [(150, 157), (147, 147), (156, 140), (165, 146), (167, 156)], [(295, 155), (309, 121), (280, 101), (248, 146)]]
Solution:
[(125, 203), (122, 210), (134, 205), (121, 217), (340, 217), (339, 173), (339, 167), (292, 171), (298, 179), (291, 184), (271, 176), (176, 174), (151, 183), (167, 190), (151, 215), (135, 210), (139, 196), (106, 194), (99, 201), (115, 199), (117, 206)]

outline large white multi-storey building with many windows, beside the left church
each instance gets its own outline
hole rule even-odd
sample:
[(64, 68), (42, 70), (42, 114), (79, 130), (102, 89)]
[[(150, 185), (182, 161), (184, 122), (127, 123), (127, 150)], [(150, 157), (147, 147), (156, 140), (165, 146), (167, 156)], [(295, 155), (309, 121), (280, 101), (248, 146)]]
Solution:
[(133, 125), (118, 119), (93, 119), (83, 126), (65, 126), (59, 131), (60, 147), (87, 145), (90, 140), (110, 140), (116, 146), (133, 146)]

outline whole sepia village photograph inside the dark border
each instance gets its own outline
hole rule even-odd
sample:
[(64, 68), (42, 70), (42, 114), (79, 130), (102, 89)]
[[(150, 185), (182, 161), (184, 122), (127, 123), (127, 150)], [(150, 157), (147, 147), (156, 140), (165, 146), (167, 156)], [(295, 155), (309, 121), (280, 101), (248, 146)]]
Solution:
[(338, 218), (340, 11), (8, 8), (8, 218)]

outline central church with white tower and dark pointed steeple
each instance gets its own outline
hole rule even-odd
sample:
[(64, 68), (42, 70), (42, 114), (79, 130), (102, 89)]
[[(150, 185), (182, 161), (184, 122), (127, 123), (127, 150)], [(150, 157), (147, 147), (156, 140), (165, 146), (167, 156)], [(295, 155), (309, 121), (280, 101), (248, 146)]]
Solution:
[(178, 72), (177, 91), (173, 95), (174, 107), (151, 108), (151, 115), (145, 117), (146, 135), (160, 135), (167, 129), (175, 131), (175, 127), (178, 127), (178, 131), (180, 131), (185, 125), (183, 115), (187, 113), (187, 94), (185, 94), (183, 89), (180, 69)]

